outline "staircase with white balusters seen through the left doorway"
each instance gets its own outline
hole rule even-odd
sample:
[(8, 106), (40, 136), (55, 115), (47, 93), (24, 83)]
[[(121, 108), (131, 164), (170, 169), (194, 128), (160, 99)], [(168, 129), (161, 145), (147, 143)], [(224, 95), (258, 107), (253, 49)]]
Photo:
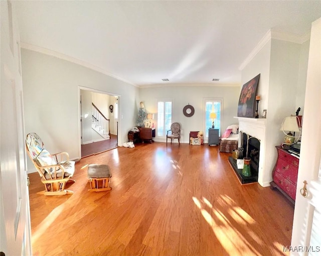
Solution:
[(109, 130), (109, 119), (107, 119), (100, 110), (95, 106), (94, 103), (92, 104), (92, 129), (101, 136), (102, 140), (109, 140), (110, 139), (110, 130)]

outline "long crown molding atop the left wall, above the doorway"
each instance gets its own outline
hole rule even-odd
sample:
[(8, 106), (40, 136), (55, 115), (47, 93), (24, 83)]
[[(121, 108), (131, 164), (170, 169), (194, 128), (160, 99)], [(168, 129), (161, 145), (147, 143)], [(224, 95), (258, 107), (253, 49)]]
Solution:
[(43, 47), (40, 47), (40, 46), (37, 46), (37, 45), (25, 43), (25, 42), (21, 42), (20, 46), (21, 46), (21, 48), (24, 48), (24, 49), (27, 49), (27, 50), (31, 50), (31, 51), (34, 51), (34, 52), (39, 52), (39, 53), (42, 53), (42, 54), (46, 54), (46, 55), (49, 55), (49, 56), (56, 57), (58, 59), (62, 59), (62, 60), (66, 60), (66, 61), (78, 64), (78, 65), (83, 66), (85, 68), (92, 69), (92, 70), (97, 71), (99, 73), (102, 73), (104, 75), (113, 77), (113, 78), (115, 78), (117, 80), (120, 80), (120, 81), (123, 81), (125, 83), (131, 84), (131, 85), (133, 85), (135, 87), (138, 87), (136, 84), (133, 84), (133, 83), (131, 83), (131, 82), (125, 80), (125, 79), (122, 79), (122, 78), (120, 78), (120, 77), (118, 77), (116, 75), (113, 75), (113, 74), (107, 72), (106, 70), (104, 70), (102, 68), (99, 68), (97, 66), (89, 64), (89, 63), (87, 63), (85, 61), (70, 57), (68, 55), (65, 55), (65, 54), (62, 54), (62, 53), (59, 53), (59, 52), (56, 52), (56, 51), (53, 51), (53, 50), (50, 50), (50, 49), (47, 49), (47, 48), (43, 48)]

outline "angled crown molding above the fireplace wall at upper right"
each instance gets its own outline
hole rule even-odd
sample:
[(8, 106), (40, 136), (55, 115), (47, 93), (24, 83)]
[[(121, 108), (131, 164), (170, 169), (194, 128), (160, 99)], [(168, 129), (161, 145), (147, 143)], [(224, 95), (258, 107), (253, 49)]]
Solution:
[(303, 44), (304, 42), (310, 39), (310, 33), (307, 33), (303, 36), (280, 32), (269, 29), (268, 32), (263, 36), (263, 38), (258, 42), (255, 48), (251, 51), (251, 53), (246, 57), (246, 59), (239, 66), (239, 70), (243, 70), (247, 64), (262, 50), (262, 48), (271, 40), (277, 39), (282, 41), (287, 41), (296, 44)]

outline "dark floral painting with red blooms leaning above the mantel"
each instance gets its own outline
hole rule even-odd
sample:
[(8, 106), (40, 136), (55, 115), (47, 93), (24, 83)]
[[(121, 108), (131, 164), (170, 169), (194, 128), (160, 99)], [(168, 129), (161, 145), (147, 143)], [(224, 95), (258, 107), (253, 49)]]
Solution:
[(255, 117), (255, 95), (259, 78), (260, 74), (243, 85), (237, 108), (237, 116)]

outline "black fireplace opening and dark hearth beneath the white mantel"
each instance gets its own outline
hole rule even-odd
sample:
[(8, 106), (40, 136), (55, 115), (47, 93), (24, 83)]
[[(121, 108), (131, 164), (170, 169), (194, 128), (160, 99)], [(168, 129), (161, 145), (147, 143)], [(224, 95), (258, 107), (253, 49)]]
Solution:
[(251, 176), (246, 177), (242, 175), (242, 169), (237, 168), (237, 161), (232, 157), (229, 157), (229, 163), (231, 164), (241, 184), (257, 182), (260, 157), (260, 140), (242, 132), (240, 132), (240, 140), (244, 149), (243, 157), (251, 158)]

